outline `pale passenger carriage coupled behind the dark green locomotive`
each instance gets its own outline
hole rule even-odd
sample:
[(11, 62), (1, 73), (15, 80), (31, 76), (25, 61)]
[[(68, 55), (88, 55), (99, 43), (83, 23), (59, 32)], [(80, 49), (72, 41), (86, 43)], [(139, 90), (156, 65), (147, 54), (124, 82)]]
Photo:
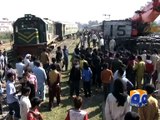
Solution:
[(55, 26), (56, 34), (59, 36), (59, 40), (69, 38), (70, 36), (76, 34), (78, 31), (77, 24), (56, 22)]

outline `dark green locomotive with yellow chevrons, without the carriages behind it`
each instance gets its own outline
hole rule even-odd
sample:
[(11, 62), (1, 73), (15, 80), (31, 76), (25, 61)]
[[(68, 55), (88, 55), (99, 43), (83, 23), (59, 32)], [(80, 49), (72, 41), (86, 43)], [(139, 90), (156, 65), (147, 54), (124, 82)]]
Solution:
[(18, 55), (30, 53), (37, 56), (40, 54), (40, 49), (46, 48), (56, 38), (53, 21), (30, 14), (17, 19), (13, 28), (13, 49)]

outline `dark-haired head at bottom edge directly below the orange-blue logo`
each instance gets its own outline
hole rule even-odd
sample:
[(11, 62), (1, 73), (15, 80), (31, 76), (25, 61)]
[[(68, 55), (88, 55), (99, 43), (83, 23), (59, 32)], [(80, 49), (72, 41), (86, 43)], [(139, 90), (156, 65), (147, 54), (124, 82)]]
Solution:
[(127, 112), (124, 117), (124, 120), (139, 120), (139, 119), (140, 117), (136, 112)]

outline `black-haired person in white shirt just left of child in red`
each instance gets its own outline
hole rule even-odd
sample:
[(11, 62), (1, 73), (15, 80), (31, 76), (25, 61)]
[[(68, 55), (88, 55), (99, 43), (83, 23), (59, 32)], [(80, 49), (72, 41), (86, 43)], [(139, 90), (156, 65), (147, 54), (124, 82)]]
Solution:
[(20, 115), (21, 120), (27, 120), (27, 113), (31, 108), (31, 103), (29, 100), (29, 94), (31, 89), (29, 87), (24, 87), (22, 89), (22, 97), (20, 99)]

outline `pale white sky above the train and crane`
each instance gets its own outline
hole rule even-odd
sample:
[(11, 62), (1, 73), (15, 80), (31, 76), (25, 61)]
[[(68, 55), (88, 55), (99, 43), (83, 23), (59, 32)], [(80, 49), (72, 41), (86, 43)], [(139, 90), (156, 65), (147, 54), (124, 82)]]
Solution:
[[(55, 21), (87, 23), (89, 20), (131, 18), (151, 0), (1, 0), (0, 18), (16, 20), (24, 14)], [(108, 16), (104, 16), (104, 14)], [(109, 17), (110, 16), (110, 17)]]

